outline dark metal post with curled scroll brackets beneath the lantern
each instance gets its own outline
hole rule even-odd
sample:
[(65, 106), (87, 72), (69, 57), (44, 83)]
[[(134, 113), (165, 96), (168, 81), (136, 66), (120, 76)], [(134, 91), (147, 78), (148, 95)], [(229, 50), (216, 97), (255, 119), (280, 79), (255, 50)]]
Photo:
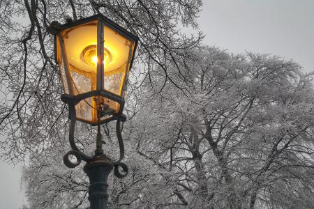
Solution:
[[(92, 93), (87, 93), (86, 96), (90, 96)], [(124, 121), (126, 118), (122, 114), (117, 118), (117, 139), (119, 142), (120, 148), (120, 156), (117, 161), (112, 161), (110, 157), (107, 157), (103, 153), (102, 148), (102, 134), (100, 133), (100, 120), (98, 115), (98, 132), (96, 137), (96, 150), (94, 156), (89, 156), (77, 148), (74, 139), (74, 130), (75, 130), (75, 123), (76, 123), (76, 111), (75, 111), (75, 104), (80, 102), (80, 100), (84, 100), (84, 96), (82, 95), (68, 95), (63, 94), (61, 95), (61, 100), (68, 104), (69, 109), (69, 117), (71, 119), (70, 123), (70, 132), (69, 132), (69, 141), (72, 150), (68, 151), (66, 155), (63, 156), (63, 162), (66, 164), (68, 168), (75, 168), (77, 167), (82, 160), (86, 162), (84, 166), (84, 172), (87, 173), (89, 177), (89, 201), (90, 201), (90, 209), (103, 209), (107, 208), (107, 178), (114, 168), (114, 175), (118, 178), (124, 178), (128, 174), (128, 167), (126, 164), (121, 162), (124, 158), (124, 141), (122, 140), (121, 135), (121, 121)], [(121, 101), (121, 103), (124, 103)], [(76, 162), (70, 160), (70, 156), (74, 156), (76, 158)], [(121, 169), (119, 169), (121, 168)]]

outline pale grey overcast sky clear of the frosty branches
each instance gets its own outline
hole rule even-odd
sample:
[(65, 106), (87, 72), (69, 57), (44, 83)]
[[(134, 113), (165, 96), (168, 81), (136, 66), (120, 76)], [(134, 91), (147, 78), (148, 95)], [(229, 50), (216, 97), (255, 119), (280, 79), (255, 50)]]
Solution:
[[(271, 53), (314, 70), (314, 0), (204, 0), (205, 44), (229, 52)], [(0, 208), (20, 208), (20, 167), (0, 162)]]

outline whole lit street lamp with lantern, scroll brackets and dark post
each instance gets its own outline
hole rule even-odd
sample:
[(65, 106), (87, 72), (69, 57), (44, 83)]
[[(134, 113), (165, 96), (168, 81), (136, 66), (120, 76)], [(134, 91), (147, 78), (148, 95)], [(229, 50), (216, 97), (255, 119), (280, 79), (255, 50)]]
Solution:
[[(112, 169), (118, 178), (128, 173), (128, 167), (121, 162), (124, 142), (120, 123), (126, 120), (122, 114), (124, 92), (138, 38), (100, 14), (67, 24), (52, 22), (49, 31), (54, 35), (55, 57), (63, 83), (61, 100), (68, 104), (70, 118), (72, 150), (64, 155), (63, 162), (69, 168), (77, 167), (82, 160), (86, 162), (90, 208), (107, 208), (108, 175)], [(98, 126), (93, 156), (82, 153), (75, 144), (76, 120)], [(102, 148), (100, 125), (109, 121), (117, 121), (120, 148), (117, 161), (107, 157)], [(76, 162), (70, 161), (71, 155)]]

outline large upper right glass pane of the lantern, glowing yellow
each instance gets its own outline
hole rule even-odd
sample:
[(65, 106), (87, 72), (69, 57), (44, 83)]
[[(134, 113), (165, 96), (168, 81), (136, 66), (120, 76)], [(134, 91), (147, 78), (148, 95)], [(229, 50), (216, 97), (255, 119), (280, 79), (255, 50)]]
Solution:
[(124, 80), (130, 68), (133, 42), (116, 31), (104, 26), (104, 88), (122, 95)]

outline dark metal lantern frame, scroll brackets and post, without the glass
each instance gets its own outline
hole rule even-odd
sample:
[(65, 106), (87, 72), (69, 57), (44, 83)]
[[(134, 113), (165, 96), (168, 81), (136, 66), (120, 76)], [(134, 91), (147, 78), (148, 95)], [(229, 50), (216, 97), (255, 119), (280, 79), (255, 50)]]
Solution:
[[(75, 95), (73, 93), (73, 89), (70, 89), (71, 87), (71, 81), (70, 81), (70, 70), (69, 65), (67, 61), (66, 56), (66, 50), (64, 50), (64, 45), (61, 37), (61, 31), (64, 31), (66, 29), (73, 28), (75, 26), (80, 26), (82, 24), (87, 24), (89, 22), (97, 21), (97, 72), (96, 72), (96, 90), (79, 93)], [(128, 54), (128, 63), (126, 63), (126, 72), (123, 75), (123, 86), (121, 88), (120, 86), (120, 95), (117, 95), (115, 93), (112, 93), (110, 91), (105, 90), (104, 88), (104, 26), (107, 26), (108, 28), (112, 29), (113, 31), (117, 32), (120, 36), (124, 36), (127, 40), (130, 40), (133, 42), (133, 50), (131, 53), (131, 49), (129, 49)], [(55, 51), (55, 59), (58, 62), (57, 59), (57, 37), (59, 38), (59, 47), (61, 47), (61, 57), (62, 57), (62, 64), (64, 68), (64, 72), (66, 74), (66, 82), (68, 84), (68, 91), (69, 93), (64, 93), (61, 95), (61, 100), (68, 104), (69, 109), (69, 118), (70, 118), (70, 130), (69, 130), (69, 141), (70, 141), (70, 147), (72, 150), (68, 151), (66, 155), (63, 156), (63, 162), (66, 164), (66, 167), (68, 168), (74, 168), (77, 167), (82, 160), (87, 162), (84, 166), (84, 172), (87, 173), (87, 176), (89, 177), (89, 201), (90, 201), (90, 208), (91, 209), (103, 209), (107, 208), (107, 178), (114, 169), (114, 175), (118, 178), (123, 178), (128, 174), (128, 167), (126, 164), (121, 162), (121, 160), (124, 158), (124, 142), (122, 140), (121, 135), (121, 121), (126, 120), (126, 116), (122, 114), (122, 111), (124, 109), (124, 91), (126, 90), (126, 83), (128, 81), (128, 72), (133, 64), (134, 54), (137, 47), (138, 38), (137, 36), (133, 35), (132, 33), (126, 31), (118, 24), (112, 22), (112, 20), (109, 20), (107, 17), (103, 15), (94, 15), (91, 17), (87, 17), (81, 20), (77, 20), (75, 22), (68, 22), (66, 24), (59, 24), (58, 22), (52, 22), (50, 24), (50, 27), (48, 28), (48, 31), (54, 35), (54, 47), (56, 49)], [(59, 66), (60, 67), (60, 66)], [(62, 77), (62, 75), (60, 75)], [(63, 84), (64, 87), (64, 84)], [(110, 100), (113, 100), (114, 102), (117, 102), (119, 104), (119, 111), (114, 112), (113, 114), (110, 113), (110, 118), (105, 118), (105, 120), (100, 121), (100, 117), (102, 114), (107, 114), (105, 110), (99, 110), (97, 109), (97, 122), (90, 122), (85, 121), (80, 118), (77, 118), (77, 113), (75, 109), (75, 105), (77, 105), (80, 101), (85, 100), (87, 98), (93, 98), (93, 97), (103, 97)], [(105, 106), (105, 105), (104, 105)], [(98, 125), (98, 132), (96, 137), (96, 150), (95, 154), (93, 156), (89, 156), (85, 153), (82, 153), (82, 151), (76, 146), (75, 144), (75, 123), (76, 120), (80, 120), (84, 123), (89, 123), (90, 125)], [(102, 134), (100, 133), (100, 125), (102, 123), (108, 123), (109, 121), (117, 120), (116, 130), (117, 130), (117, 139), (119, 142), (119, 148), (120, 148), (120, 156), (117, 161), (113, 161), (110, 159), (110, 157), (107, 157), (103, 151), (102, 145)], [(71, 161), (70, 156), (75, 156), (76, 162)], [(120, 169), (119, 169), (120, 168)], [(121, 171), (122, 169), (122, 171)]]

